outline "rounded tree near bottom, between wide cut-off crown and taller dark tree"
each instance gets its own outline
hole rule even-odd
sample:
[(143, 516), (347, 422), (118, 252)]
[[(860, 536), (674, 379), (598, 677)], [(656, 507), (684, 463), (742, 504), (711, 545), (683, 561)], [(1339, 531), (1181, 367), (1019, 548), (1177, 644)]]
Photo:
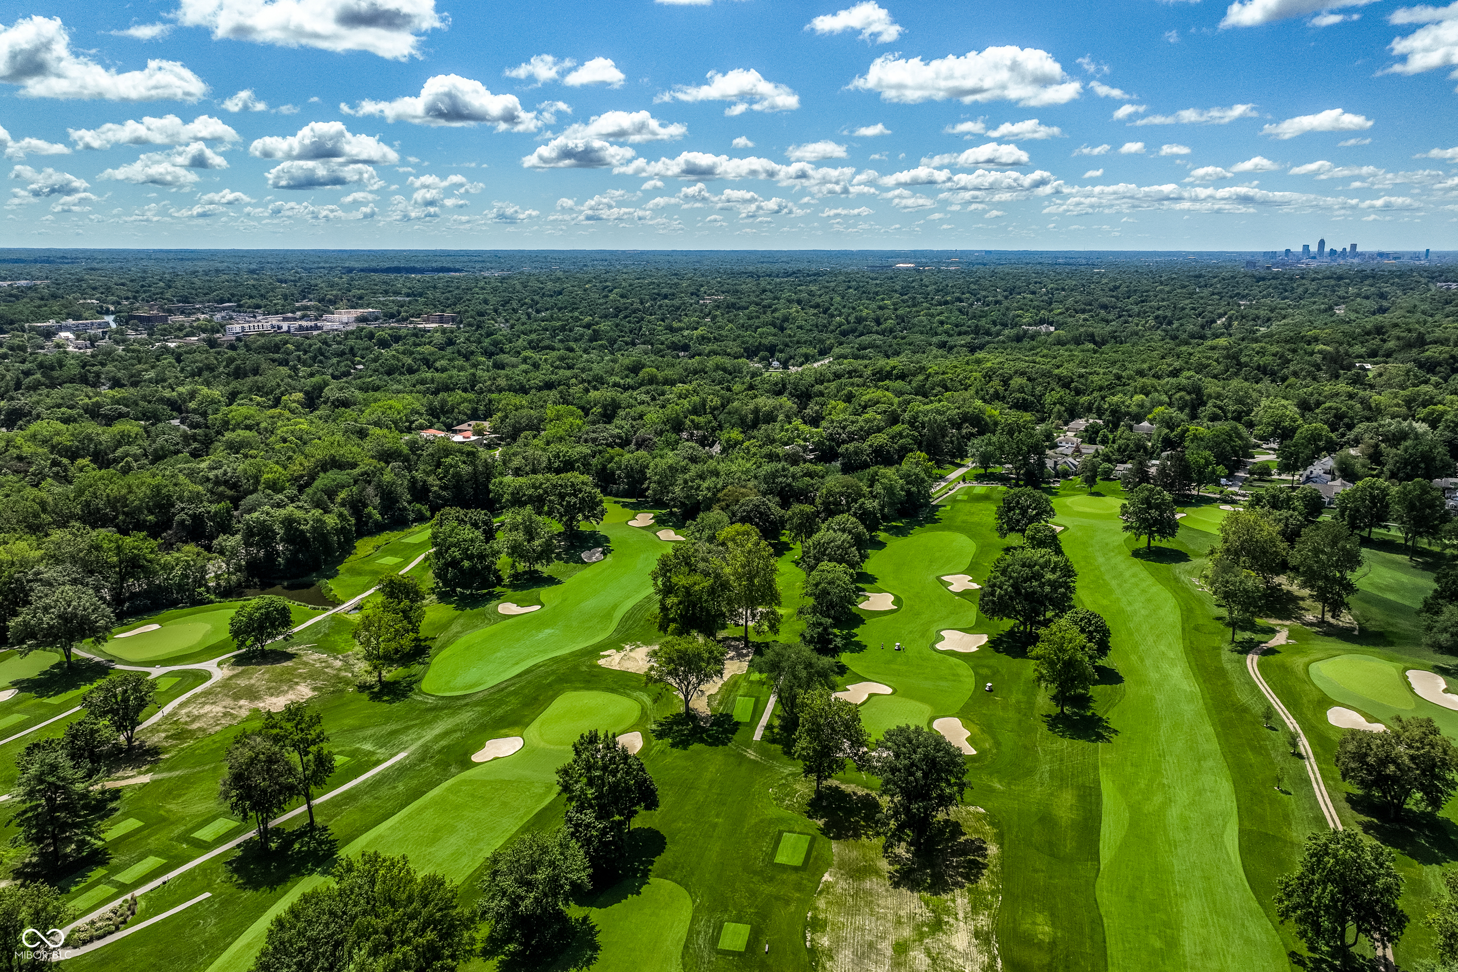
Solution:
[(481, 877), (483, 953), (542, 956), (563, 940), (572, 896), (592, 883), (592, 866), (567, 831), (529, 831), (486, 860)]

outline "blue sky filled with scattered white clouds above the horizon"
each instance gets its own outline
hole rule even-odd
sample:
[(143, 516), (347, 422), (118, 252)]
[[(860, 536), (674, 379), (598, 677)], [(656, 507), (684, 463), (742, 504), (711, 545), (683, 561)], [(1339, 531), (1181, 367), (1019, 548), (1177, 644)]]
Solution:
[(1458, 249), (1458, 0), (6, 16), (7, 246)]

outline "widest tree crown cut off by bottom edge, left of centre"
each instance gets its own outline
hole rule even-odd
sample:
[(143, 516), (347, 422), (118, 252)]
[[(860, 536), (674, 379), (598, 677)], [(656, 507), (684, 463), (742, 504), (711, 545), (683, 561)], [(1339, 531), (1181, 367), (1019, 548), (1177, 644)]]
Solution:
[(252, 972), (449, 972), (474, 952), (455, 883), (405, 857), (341, 858), (270, 924)]

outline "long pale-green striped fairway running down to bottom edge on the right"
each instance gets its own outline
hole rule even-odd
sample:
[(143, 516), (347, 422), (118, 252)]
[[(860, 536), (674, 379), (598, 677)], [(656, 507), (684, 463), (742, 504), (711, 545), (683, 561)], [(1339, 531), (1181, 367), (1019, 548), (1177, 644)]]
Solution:
[[(1079, 593), (1114, 631), (1126, 681), (1099, 759), (1095, 885), (1110, 969), (1283, 968), (1280, 938), (1241, 866), (1235, 788), (1184, 654), (1174, 597), (1105, 516), (1064, 514)], [(1263, 957), (1264, 956), (1264, 957)]]

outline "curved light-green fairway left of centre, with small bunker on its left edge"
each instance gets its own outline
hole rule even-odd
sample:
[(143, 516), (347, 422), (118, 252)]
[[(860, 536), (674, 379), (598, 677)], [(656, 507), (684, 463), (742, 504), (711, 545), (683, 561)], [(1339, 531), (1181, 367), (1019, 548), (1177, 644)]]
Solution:
[(493, 624), (453, 641), (430, 663), (420, 688), (432, 695), (467, 695), (503, 682), (544, 659), (608, 637), (628, 608), (652, 592), (649, 570), (668, 549), (647, 530), (627, 525), (627, 510), (608, 506), (601, 532), (612, 551), (550, 587), (542, 609)]

